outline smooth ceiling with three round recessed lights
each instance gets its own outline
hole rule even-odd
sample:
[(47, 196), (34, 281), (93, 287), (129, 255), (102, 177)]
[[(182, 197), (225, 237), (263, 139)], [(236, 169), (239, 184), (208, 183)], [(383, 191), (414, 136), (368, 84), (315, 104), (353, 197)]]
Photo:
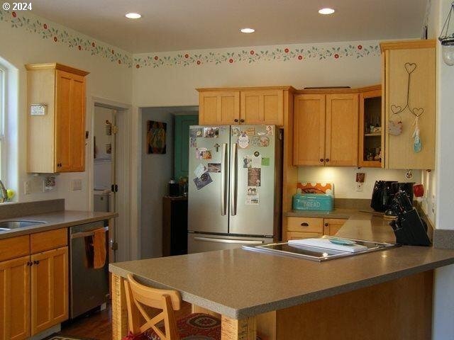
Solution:
[[(39, 0), (33, 13), (128, 52), (420, 38), (428, 0)], [(321, 16), (319, 8), (336, 13)], [(138, 12), (130, 20), (125, 13)], [(255, 33), (240, 33), (244, 27)]]

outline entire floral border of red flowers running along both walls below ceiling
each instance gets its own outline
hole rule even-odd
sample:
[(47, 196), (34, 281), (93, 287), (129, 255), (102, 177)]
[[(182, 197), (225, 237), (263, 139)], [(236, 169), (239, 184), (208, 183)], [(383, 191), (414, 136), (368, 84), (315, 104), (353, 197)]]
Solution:
[[(345, 58), (360, 59), (380, 56), (377, 42), (353, 42), (326, 44), (298, 44), (279, 46), (236, 47), (231, 49), (189, 50), (178, 52), (157, 52), (133, 55), (104, 42), (94, 40), (65, 28), (56, 23), (31, 13), (19, 14), (15, 11), (0, 10), (0, 22), (9, 23), (11, 28), (23, 28), (36, 33), (43, 39), (79, 51), (90, 52), (91, 55), (104, 57), (126, 67), (199, 67), (206, 64), (253, 64), (257, 62), (304, 62), (306, 60), (342, 60)], [(364, 45), (362, 45), (364, 44)]]

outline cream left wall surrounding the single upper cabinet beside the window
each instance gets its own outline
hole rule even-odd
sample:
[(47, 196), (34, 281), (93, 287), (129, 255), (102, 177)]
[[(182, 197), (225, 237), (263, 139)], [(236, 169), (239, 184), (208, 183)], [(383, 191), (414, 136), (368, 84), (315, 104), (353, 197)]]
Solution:
[[(6, 142), (11, 145), (10, 153), (6, 155), (9, 166), (7, 169), (6, 186), (15, 188), (17, 192), (16, 200), (31, 201), (53, 198), (65, 198), (66, 208), (74, 210), (88, 210), (87, 191), (87, 172), (60, 174), (56, 177), (57, 187), (48, 193), (40, 192), (38, 185), (33, 186), (31, 195), (23, 192), (23, 183), (32, 179), (35, 184), (41, 179), (33, 179), (26, 173), (26, 69), (24, 64), (60, 62), (72, 67), (84, 69), (90, 72), (87, 76), (87, 98), (96, 96), (106, 98), (121, 103), (131, 103), (131, 84), (132, 72), (127, 64), (118, 64), (117, 56), (121, 60), (128, 60), (131, 55), (111, 47), (115, 50), (112, 57), (106, 51), (110, 48), (102, 42), (86, 37), (73, 30), (64, 28), (43, 18), (33, 16), (31, 13), (18, 13), (17, 18), (30, 19), (26, 24), (24, 21), (18, 23), (17, 18), (12, 17), (12, 13), (0, 11), (0, 57), (4, 58), (17, 69), (18, 74), (18, 109), (9, 112), (6, 124)], [(18, 27), (12, 27), (12, 21)], [(43, 29), (44, 23), (47, 30)], [(33, 26), (33, 25), (35, 26)], [(49, 35), (50, 28), (57, 30), (57, 42), (53, 36)], [(36, 30), (36, 32), (34, 31)], [(65, 41), (65, 34), (68, 38)], [(45, 36), (46, 38), (43, 38)], [(94, 42), (101, 52), (81, 50), (77, 44), (82, 41)], [(70, 47), (73, 46), (73, 47)], [(97, 53), (97, 54), (96, 54)], [(123, 58), (123, 59), (122, 59)], [(87, 101), (89, 103), (89, 101)], [(13, 105), (13, 103), (11, 103)], [(92, 108), (87, 107), (87, 118)], [(91, 130), (91, 122), (87, 119), (87, 130)], [(17, 149), (15, 147), (17, 146)], [(88, 141), (87, 150), (92, 148), (92, 143)], [(89, 154), (89, 152), (87, 152)], [(88, 161), (88, 159), (87, 159)], [(82, 179), (82, 191), (70, 191), (70, 181), (72, 179)]]

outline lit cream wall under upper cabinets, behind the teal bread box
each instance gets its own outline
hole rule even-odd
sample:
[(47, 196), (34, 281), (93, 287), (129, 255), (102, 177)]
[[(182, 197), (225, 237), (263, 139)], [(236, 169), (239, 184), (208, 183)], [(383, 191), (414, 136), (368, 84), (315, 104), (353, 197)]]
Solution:
[[(356, 173), (365, 173), (362, 191), (356, 191)], [(413, 178), (405, 178), (405, 170), (374, 169), (374, 168), (341, 168), (334, 166), (301, 166), (298, 169), (299, 181), (326, 181), (334, 183), (335, 198), (366, 198), (372, 197), (375, 181), (399, 181), (421, 183), (419, 171), (413, 171)], [(296, 183), (295, 183), (296, 192)]]

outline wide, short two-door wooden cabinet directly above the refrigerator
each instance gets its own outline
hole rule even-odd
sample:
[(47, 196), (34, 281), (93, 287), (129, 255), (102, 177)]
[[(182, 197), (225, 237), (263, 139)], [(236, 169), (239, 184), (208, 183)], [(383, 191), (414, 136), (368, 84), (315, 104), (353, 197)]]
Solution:
[(197, 89), (200, 125), (284, 125), (292, 87)]

